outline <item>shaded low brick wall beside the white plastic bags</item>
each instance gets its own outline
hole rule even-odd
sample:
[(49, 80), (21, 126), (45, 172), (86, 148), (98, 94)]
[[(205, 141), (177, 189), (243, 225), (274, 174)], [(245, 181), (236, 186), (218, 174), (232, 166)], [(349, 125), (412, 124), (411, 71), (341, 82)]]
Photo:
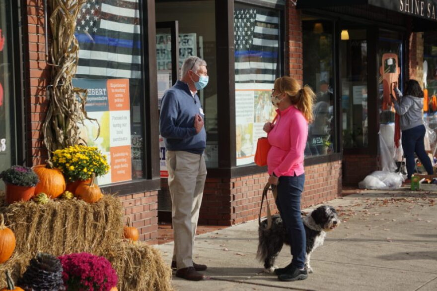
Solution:
[(370, 155), (343, 156), (343, 184), (358, 187), (366, 175), (379, 169), (379, 158)]

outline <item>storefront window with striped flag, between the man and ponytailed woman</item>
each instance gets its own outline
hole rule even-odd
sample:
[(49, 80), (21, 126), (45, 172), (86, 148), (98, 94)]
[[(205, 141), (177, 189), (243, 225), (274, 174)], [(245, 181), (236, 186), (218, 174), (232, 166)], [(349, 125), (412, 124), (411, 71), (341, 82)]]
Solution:
[(280, 10), (235, 3), (236, 165), (254, 162), (263, 125), (273, 120), (270, 95), (282, 74)]

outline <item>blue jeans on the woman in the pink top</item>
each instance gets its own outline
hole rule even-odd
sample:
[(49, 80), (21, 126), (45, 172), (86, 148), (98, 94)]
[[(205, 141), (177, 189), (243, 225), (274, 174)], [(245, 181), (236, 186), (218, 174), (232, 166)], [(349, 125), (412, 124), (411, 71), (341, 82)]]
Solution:
[(289, 235), (291, 244), (291, 264), (302, 269), (305, 266), (306, 235), (300, 216), (300, 195), (303, 192), (305, 174), (279, 177), (276, 206)]

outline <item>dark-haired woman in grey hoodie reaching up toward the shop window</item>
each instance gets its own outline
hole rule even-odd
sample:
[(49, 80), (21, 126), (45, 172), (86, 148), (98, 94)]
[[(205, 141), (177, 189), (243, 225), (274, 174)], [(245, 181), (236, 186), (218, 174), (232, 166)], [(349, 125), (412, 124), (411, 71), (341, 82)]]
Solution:
[(402, 148), (407, 166), (407, 180), (411, 179), (414, 173), (414, 153), (424, 165), (429, 175), (434, 174), (431, 160), (425, 152), (425, 125), (422, 118), (424, 93), (416, 80), (407, 81), (405, 95), (394, 82), (396, 97), (394, 98), (394, 109), (400, 115), (400, 127), (402, 131)]

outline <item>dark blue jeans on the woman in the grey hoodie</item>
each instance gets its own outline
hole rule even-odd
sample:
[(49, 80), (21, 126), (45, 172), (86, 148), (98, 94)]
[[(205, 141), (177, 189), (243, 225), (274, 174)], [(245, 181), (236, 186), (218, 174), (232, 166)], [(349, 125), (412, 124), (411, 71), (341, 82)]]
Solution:
[(424, 165), (429, 175), (434, 174), (433, 164), (425, 152), (425, 125), (419, 125), (407, 130), (402, 130), (402, 148), (405, 155), (408, 179), (414, 174), (414, 153)]

